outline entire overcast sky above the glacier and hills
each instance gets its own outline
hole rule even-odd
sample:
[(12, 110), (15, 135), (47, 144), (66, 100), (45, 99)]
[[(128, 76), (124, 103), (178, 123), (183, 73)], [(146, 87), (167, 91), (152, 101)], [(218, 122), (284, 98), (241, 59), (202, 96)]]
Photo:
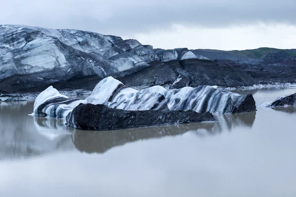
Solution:
[(296, 48), (296, 0), (1, 0), (0, 24), (78, 29), (154, 48)]

